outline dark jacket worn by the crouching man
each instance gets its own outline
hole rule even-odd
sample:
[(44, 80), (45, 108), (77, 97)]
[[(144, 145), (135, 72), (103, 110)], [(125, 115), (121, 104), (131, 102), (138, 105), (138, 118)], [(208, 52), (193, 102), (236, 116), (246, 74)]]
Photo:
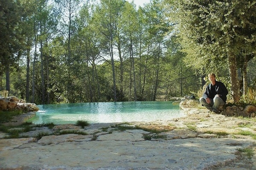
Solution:
[(215, 85), (212, 85), (211, 83), (206, 87), (203, 97), (206, 99), (209, 97), (210, 99), (213, 99), (216, 94), (220, 95), (220, 98), (226, 102), (227, 100), (227, 88), (222, 82), (215, 81)]

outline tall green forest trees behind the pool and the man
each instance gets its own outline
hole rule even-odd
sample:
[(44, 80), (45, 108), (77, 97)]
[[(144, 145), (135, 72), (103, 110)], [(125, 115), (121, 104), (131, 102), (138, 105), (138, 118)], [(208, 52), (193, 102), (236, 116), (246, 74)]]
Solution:
[(0, 0), (0, 91), (36, 104), (168, 100), (214, 72), (229, 99), (255, 105), (255, 11), (256, 0)]

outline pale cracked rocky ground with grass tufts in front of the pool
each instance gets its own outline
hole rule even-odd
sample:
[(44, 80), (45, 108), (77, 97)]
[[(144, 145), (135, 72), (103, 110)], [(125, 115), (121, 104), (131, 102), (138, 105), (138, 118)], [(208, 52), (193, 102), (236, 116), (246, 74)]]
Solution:
[[(3, 139), (8, 134), (0, 133), (0, 169), (256, 169), (255, 119), (183, 109), (186, 116), (173, 120), (37, 127), (21, 139)], [(84, 134), (56, 135), (56, 130)], [(40, 133), (49, 136), (38, 140)]]

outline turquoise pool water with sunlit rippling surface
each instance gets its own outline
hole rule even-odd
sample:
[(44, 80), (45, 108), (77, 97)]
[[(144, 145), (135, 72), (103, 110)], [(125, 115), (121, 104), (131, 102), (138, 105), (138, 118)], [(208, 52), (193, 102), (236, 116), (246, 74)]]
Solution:
[(39, 111), (31, 119), (35, 124), (53, 122), (55, 124), (111, 122), (151, 122), (169, 120), (184, 116), (178, 105), (172, 102), (97, 102), (38, 105)]

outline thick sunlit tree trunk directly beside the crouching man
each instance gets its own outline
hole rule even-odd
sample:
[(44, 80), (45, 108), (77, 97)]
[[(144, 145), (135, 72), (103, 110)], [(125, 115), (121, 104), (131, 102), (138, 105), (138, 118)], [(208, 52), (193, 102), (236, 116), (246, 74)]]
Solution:
[(228, 64), (231, 82), (231, 96), (236, 103), (240, 100), (239, 81), (237, 74), (236, 57), (231, 53), (228, 54)]

